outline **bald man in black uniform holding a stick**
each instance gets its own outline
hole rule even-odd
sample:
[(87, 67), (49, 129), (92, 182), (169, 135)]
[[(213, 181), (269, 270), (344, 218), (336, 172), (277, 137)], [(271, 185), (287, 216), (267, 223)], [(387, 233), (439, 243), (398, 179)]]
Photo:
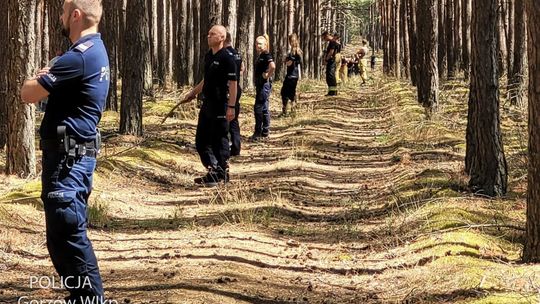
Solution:
[(186, 99), (204, 95), (195, 146), (202, 164), (208, 169), (195, 183), (215, 187), (229, 181), (229, 122), (235, 117), (237, 69), (233, 56), (224, 48), (227, 30), (221, 25), (208, 32), (210, 50), (204, 58), (204, 79), (188, 93)]

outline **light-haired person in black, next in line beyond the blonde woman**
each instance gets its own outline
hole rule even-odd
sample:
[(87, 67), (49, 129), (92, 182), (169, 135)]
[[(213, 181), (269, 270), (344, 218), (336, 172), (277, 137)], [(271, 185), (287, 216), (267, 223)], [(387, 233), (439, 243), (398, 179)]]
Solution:
[(295, 33), (289, 35), (289, 44), (291, 52), (285, 58), (287, 65), (287, 75), (281, 87), (281, 101), (283, 103), (283, 111), (280, 117), (287, 115), (287, 104), (291, 101), (291, 112), (294, 111), (294, 103), (296, 102), (296, 86), (300, 79), (300, 66), (302, 64), (302, 50), (298, 43), (298, 36)]

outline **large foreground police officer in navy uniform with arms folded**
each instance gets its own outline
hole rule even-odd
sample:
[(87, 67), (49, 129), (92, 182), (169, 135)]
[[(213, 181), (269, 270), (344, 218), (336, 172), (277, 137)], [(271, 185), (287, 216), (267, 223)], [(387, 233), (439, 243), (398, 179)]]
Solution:
[(26, 103), (48, 97), (40, 128), (41, 199), (47, 248), (72, 303), (103, 301), (98, 263), (87, 236), (88, 197), (100, 142), (97, 124), (109, 91), (109, 60), (98, 33), (101, 15), (99, 0), (66, 0), (62, 32), (71, 47), (21, 89)]

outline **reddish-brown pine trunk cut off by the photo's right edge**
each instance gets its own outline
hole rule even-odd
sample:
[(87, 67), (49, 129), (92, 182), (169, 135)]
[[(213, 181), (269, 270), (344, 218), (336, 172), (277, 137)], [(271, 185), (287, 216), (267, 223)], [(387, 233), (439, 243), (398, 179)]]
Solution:
[[(529, 28), (529, 173), (523, 260), (540, 262), (540, 6), (526, 0)], [(516, 10), (517, 13), (517, 10)], [(516, 15), (517, 17), (517, 15)]]

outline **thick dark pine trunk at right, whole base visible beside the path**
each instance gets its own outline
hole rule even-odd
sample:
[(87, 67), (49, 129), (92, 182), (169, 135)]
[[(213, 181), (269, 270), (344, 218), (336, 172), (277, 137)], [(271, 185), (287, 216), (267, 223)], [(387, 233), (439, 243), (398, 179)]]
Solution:
[(466, 170), (475, 193), (506, 193), (508, 169), (499, 115), (497, 71), (497, 0), (475, 0), (472, 11), (472, 56)]

